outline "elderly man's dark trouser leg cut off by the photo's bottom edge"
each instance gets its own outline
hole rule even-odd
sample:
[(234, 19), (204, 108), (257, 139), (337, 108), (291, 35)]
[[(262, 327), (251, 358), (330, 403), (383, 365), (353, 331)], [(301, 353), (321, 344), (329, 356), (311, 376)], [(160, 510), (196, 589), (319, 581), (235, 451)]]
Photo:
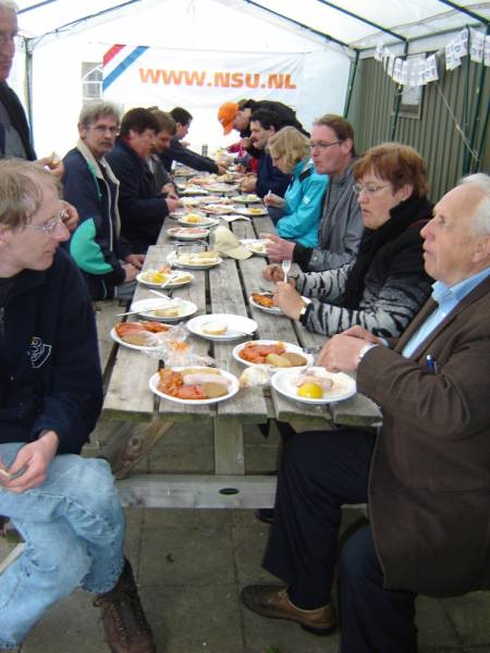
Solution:
[(345, 543), (339, 582), (341, 653), (416, 653), (415, 594), (383, 589), (370, 526)]

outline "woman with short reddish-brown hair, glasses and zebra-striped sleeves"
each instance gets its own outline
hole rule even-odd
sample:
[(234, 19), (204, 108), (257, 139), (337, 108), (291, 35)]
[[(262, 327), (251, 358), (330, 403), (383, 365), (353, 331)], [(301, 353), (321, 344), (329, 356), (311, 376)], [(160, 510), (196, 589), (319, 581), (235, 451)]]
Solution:
[(356, 260), (289, 283), (279, 266), (264, 275), (278, 281), (274, 304), (310, 331), (332, 335), (360, 324), (397, 336), (430, 292), (420, 237), (431, 214), (426, 164), (413, 148), (387, 143), (357, 161), (354, 180), (366, 227)]

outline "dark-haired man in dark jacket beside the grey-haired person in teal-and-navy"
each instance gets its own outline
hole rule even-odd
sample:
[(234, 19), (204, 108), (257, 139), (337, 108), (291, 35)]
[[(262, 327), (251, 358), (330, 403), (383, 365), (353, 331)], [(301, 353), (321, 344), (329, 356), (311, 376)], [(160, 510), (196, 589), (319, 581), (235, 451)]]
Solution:
[(146, 254), (155, 245), (166, 215), (182, 206), (179, 199), (157, 189), (146, 163), (158, 132), (151, 111), (131, 109), (123, 115), (119, 137), (106, 157), (121, 184), (121, 233), (136, 254)]

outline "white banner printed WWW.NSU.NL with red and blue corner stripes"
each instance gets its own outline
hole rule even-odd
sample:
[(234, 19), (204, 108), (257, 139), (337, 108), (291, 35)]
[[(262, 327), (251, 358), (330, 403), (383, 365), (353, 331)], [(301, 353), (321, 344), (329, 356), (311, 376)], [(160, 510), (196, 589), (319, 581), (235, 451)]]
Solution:
[(295, 108), (303, 53), (210, 52), (112, 46), (103, 59), (103, 97), (123, 106), (212, 109), (242, 98)]

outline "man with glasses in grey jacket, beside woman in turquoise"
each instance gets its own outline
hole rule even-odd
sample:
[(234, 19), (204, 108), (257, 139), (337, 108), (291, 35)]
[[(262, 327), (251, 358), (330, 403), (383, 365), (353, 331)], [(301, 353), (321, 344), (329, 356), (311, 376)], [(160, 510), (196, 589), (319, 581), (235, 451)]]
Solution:
[(311, 160), (318, 174), (329, 175), (323, 212), (318, 226), (318, 247), (305, 247), (275, 234), (267, 247), (272, 262), (292, 260), (304, 272), (340, 268), (357, 255), (364, 226), (353, 189), (354, 131), (341, 115), (327, 114), (311, 128)]

